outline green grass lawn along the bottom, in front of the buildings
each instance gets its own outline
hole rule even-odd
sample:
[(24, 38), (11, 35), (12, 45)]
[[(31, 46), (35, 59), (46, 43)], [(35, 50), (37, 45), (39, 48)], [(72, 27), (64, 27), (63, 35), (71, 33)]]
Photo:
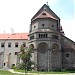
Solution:
[[(24, 70), (15, 70), (16, 72), (25, 72)], [(71, 71), (65, 71), (65, 72), (38, 72), (38, 71), (31, 71), (32, 74), (29, 75), (39, 75), (39, 74), (68, 74), (68, 73), (75, 73)], [(0, 75), (24, 75), (24, 74), (14, 74), (11, 72), (8, 72), (6, 70), (0, 70)], [(27, 74), (28, 75), (28, 74)]]

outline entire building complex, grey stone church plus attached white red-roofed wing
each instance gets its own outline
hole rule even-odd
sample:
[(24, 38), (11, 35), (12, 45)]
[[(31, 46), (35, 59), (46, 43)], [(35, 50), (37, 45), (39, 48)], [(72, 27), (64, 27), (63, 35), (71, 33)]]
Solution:
[(0, 34), (0, 68), (16, 66), (22, 44), (32, 47), (37, 71), (75, 68), (75, 42), (64, 35), (60, 18), (46, 4), (32, 17), (29, 34)]

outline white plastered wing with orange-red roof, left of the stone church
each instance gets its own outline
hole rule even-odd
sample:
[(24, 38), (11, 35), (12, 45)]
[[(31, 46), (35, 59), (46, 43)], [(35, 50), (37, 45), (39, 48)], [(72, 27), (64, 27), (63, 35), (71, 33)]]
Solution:
[(11, 68), (20, 62), (20, 46), (28, 46), (28, 33), (0, 34), (0, 68)]

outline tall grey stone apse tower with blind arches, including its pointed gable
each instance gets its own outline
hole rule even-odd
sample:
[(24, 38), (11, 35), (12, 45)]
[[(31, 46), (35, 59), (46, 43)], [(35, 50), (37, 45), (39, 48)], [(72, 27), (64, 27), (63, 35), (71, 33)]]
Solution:
[(29, 47), (38, 71), (61, 68), (60, 18), (44, 4), (33, 16), (29, 31)]

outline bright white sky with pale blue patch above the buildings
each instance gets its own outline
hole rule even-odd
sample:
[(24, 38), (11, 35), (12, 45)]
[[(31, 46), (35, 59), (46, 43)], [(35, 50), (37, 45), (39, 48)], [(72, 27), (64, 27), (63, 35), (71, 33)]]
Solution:
[(29, 32), (31, 18), (48, 1), (60, 17), (65, 35), (75, 41), (74, 0), (0, 0), (0, 33)]

